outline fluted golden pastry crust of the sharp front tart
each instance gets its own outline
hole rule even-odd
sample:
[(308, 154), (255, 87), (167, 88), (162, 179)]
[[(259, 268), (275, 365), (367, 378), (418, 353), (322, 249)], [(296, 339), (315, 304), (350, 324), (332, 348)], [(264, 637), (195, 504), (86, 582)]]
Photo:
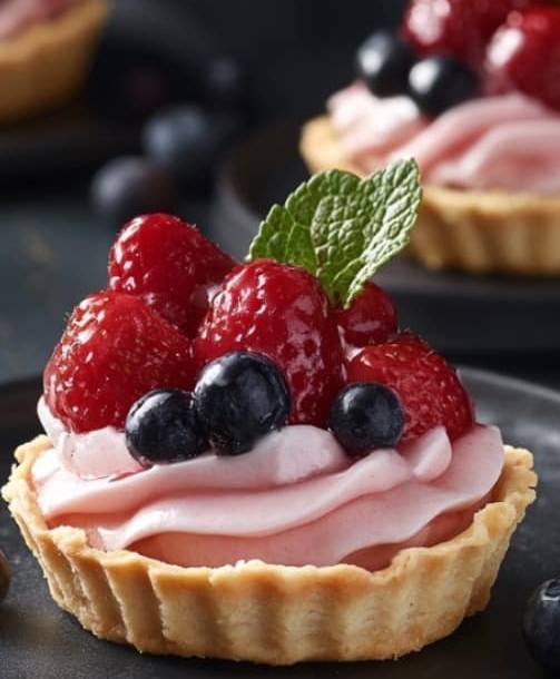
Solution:
[(181, 568), (92, 549), (80, 529), (49, 530), (30, 481), (48, 447), (39, 436), (16, 451), (2, 494), (52, 597), (97, 637), (151, 653), (289, 665), (420, 650), (484, 609), (536, 496), (531, 453), (508, 446), (492, 500), (471, 527), (435, 547), (402, 550), (384, 570), (261, 561)]

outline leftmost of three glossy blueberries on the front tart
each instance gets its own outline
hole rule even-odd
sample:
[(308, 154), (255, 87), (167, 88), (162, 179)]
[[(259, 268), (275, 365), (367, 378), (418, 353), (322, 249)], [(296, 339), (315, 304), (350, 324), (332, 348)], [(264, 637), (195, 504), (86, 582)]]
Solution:
[(125, 439), (141, 464), (189, 460), (208, 449), (193, 394), (179, 390), (141, 396), (127, 415)]

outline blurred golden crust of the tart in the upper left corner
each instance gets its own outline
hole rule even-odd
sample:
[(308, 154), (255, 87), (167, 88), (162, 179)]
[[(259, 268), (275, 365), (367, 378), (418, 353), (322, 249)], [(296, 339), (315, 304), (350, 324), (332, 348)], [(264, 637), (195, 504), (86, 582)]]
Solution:
[(107, 13), (105, 0), (82, 0), (0, 40), (0, 121), (49, 110), (76, 94)]

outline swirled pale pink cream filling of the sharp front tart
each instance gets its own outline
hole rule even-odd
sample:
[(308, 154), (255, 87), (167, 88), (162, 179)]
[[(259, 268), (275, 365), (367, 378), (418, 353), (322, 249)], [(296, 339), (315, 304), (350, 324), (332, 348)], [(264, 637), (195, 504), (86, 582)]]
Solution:
[(126, 460), (121, 432), (69, 434), (42, 402), (39, 412), (53, 445), (32, 475), (49, 527), (82, 528), (95, 547), (179, 565), (261, 559), (377, 569), (404, 547), (464, 530), (503, 465), (495, 427), (474, 426), (453, 444), (435, 427), (353, 461), (331, 433), (294, 425), (245, 455), (139, 469)]

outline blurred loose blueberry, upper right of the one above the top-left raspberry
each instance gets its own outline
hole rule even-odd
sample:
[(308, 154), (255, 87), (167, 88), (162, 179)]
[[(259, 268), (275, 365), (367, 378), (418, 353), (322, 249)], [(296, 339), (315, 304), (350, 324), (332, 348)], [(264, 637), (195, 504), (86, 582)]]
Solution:
[(236, 128), (233, 115), (209, 112), (196, 105), (178, 106), (147, 122), (144, 150), (185, 185), (208, 174)]

